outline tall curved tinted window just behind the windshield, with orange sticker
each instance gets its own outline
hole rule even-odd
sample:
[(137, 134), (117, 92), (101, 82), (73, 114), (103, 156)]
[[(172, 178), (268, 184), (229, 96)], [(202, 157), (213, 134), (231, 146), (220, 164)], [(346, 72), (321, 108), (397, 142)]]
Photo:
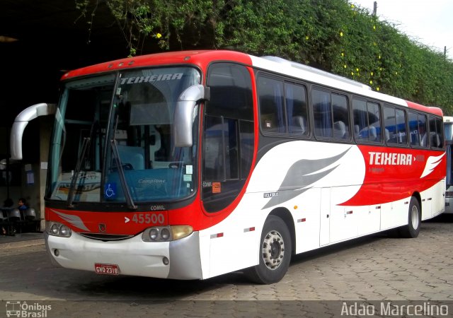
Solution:
[(203, 132), (202, 199), (206, 211), (231, 204), (253, 161), (251, 76), (245, 66), (213, 64), (208, 70), (210, 100)]

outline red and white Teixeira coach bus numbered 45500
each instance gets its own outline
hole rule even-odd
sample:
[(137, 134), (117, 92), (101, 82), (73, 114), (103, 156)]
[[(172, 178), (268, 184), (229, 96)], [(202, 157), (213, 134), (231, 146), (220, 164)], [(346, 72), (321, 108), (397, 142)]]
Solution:
[(444, 211), (442, 111), (276, 57), (168, 52), (69, 71), (45, 196), (71, 269), (275, 283), (299, 254)]

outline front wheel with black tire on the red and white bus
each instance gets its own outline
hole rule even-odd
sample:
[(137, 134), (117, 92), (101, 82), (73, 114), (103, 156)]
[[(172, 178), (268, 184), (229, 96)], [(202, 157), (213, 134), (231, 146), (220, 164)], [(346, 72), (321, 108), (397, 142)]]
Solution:
[(277, 283), (288, 270), (291, 254), (291, 235), (285, 222), (277, 216), (269, 216), (261, 233), (260, 264), (244, 273), (254, 283)]

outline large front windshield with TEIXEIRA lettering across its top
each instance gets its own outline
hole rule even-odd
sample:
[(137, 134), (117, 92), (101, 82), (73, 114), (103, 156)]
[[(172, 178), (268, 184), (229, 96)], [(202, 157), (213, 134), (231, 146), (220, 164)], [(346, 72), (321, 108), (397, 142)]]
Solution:
[(193, 146), (173, 146), (180, 93), (200, 83), (190, 67), (134, 69), (68, 81), (52, 133), (47, 198), (168, 201), (195, 191)]

